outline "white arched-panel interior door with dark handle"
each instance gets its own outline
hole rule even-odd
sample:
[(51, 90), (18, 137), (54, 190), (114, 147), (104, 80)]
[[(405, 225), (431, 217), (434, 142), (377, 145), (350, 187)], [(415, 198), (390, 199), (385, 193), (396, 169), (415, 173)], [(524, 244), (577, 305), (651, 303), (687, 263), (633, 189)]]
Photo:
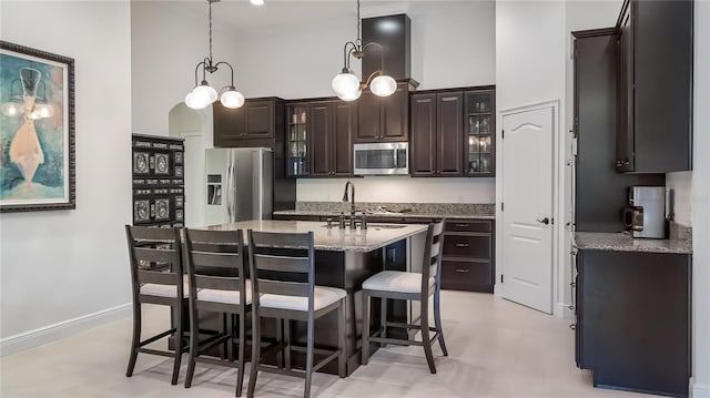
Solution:
[(503, 116), (503, 297), (552, 313), (555, 109)]

